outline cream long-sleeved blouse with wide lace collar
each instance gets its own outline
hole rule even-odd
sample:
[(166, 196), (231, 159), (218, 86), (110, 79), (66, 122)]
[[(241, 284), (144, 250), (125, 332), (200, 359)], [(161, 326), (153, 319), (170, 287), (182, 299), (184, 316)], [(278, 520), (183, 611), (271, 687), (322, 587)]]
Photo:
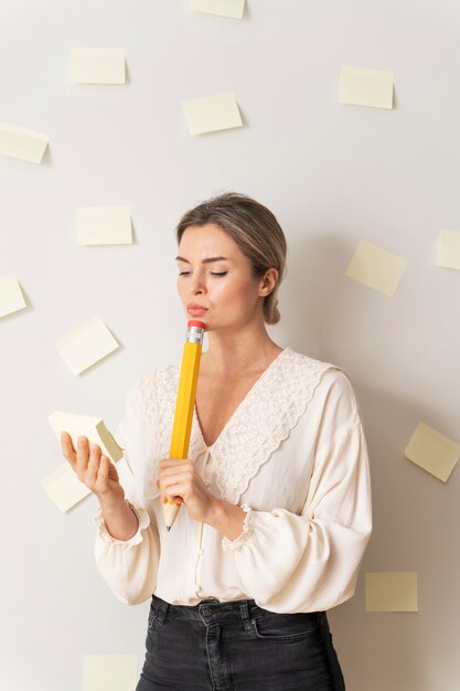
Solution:
[(286, 348), (256, 381), (215, 443), (193, 414), (189, 458), (217, 497), (246, 512), (228, 540), (182, 504), (168, 532), (159, 461), (169, 457), (180, 366), (129, 390), (116, 438), (126, 499), (138, 519), (127, 541), (96, 517), (96, 562), (133, 605), (254, 598), (276, 613), (319, 612), (350, 598), (371, 535), (367, 448), (353, 389), (340, 368)]

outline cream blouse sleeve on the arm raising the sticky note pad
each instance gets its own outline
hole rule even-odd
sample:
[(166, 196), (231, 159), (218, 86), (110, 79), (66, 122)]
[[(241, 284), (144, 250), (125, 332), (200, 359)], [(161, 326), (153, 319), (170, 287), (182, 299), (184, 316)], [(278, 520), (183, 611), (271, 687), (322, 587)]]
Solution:
[(136, 474), (140, 472), (148, 454), (139, 382), (128, 392), (125, 415), (115, 432), (115, 438), (124, 448), (124, 458), (118, 461), (117, 470), (126, 501), (137, 515), (138, 529), (129, 540), (117, 540), (108, 532), (99, 508), (96, 515), (96, 564), (115, 595), (122, 603), (136, 605), (150, 597), (154, 591), (160, 555), (157, 525), (142, 507), (140, 492), (136, 488)]

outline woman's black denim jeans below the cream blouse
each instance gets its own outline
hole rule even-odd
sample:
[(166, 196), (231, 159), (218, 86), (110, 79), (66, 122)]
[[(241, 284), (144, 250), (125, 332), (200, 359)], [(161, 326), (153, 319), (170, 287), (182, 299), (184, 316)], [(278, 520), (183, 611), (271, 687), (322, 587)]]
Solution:
[(194, 607), (156, 595), (136, 691), (344, 691), (324, 612), (274, 614), (254, 599)]

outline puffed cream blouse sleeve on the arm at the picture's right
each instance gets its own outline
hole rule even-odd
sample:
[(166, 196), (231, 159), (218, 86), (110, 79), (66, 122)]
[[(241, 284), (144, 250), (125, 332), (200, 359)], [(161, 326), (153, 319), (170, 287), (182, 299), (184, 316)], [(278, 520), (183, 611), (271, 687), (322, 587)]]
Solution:
[(372, 531), (366, 440), (353, 390), (340, 373), (327, 397), (301, 514), (243, 506), (232, 550), (248, 597), (277, 613), (321, 612), (349, 599)]

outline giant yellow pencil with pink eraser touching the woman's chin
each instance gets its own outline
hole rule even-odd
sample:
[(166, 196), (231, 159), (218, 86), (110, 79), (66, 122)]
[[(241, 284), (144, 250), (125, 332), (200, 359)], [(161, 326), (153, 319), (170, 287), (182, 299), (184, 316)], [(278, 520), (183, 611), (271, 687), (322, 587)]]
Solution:
[[(178, 397), (175, 401), (174, 423), (169, 456), (170, 458), (186, 458), (189, 454), (190, 433), (192, 430), (193, 408), (199, 381), (201, 349), (205, 326), (202, 321), (190, 320), (186, 328), (186, 338), (182, 354), (181, 375), (179, 379)], [(179, 509), (175, 502), (165, 502), (163, 506), (167, 530), (171, 530)]]

